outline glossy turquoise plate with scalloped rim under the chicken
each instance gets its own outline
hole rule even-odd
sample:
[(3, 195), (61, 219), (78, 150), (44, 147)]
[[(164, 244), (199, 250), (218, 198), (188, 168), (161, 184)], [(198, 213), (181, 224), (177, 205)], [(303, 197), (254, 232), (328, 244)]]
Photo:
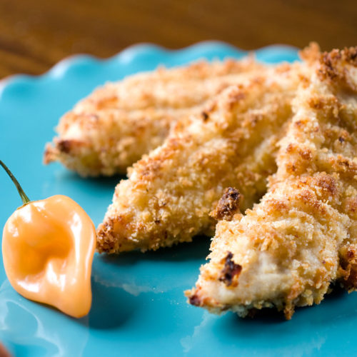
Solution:
[[(0, 157), (30, 198), (70, 196), (98, 225), (118, 178), (83, 179), (59, 164), (42, 164), (44, 144), (54, 136), (59, 117), (105, 81), (159, 64), (171, 67), (245, 55), (221, 42), (178, 51), (139, 45), (105, 61), (74, 56), (43, 76), (6, 79), (0, 82)], [(298, 58), (296, 49), (288, 46), (265, 47), (256, 56), (269, 63)], [(3, 171), (0, 187), (4, 226), (20, 201)], [(93, 305), (79, 320), (17, 294), (1, 261), (0, 341), (14, 356), (356, 355), (357, 293), (336, 291), (319, 306), (299, 308), (291, 321), (276, 311), (241, 319), (189, 306), (183, 291), (195, 283), (209, 243), (197, 237), (193, 243), (145, 254), (96, 254)]]

